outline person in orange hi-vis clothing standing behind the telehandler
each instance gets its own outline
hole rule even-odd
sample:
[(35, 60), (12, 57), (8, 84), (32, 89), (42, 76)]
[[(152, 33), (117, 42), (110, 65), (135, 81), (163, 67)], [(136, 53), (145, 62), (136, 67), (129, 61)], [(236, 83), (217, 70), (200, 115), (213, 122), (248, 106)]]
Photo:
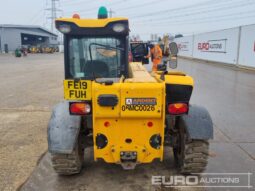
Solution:
[(146, 56), (146, 58), (149, 58), (149, 57), (151, 57), (151, 60), (153, 63), (152, 71), (157, 71), (157, 66), (162, 61), (162, 50), (158, 44), (150, 45), (150, 53), (148, 56)]

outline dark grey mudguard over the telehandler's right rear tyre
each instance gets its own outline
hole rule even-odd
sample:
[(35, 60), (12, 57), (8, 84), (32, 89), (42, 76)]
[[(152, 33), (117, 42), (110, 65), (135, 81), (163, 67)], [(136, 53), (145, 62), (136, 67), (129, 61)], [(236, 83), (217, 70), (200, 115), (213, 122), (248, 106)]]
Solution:
[(182, 116), (188, 138), (213, 139), (213, 123), (209, 112), (200, 106), (190, 106), (188, 115)]

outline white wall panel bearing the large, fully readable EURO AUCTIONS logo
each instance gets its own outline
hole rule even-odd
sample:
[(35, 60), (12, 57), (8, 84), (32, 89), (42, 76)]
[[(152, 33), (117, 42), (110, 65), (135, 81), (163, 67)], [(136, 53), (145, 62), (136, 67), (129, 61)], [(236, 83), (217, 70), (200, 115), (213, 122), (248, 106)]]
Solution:
[(195, 35), (193, 57), (236, 64), (238, 39), (239, 27)]

